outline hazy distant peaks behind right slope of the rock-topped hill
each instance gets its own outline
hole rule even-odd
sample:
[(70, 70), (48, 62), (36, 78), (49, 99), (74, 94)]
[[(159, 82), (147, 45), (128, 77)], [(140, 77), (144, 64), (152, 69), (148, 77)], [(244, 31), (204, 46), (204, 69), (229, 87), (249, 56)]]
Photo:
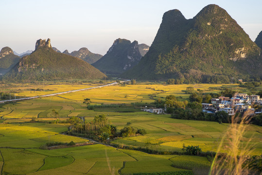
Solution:
[[(56, 49), (55, 47), (52, 47), (52, 49), (55, 52), (61, 53), (58, 49)], [(68, 50), (65, 50), (63, 52), (64, 54), (68, 54), (71, 56), (75, 56), (78, 57), (84, 61), (86, 61), (89, 64), (92, 64), (94, 62), (96, 62), (97, 60), (99, 60), (100, 58), (102, 58), (103, 55), (101, 54), (97, 54), (97, 53), (91, 53), (87, 48), (81, 48), (78, 51), (73, 51), (71, 53), (68, 52)]]

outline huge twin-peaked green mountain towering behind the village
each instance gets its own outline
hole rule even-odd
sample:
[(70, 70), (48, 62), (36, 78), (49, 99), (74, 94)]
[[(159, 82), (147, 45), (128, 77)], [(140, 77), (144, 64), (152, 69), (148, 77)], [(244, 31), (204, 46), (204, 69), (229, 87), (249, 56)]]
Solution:
[(262, 76), (261, 49), (218, 5), (204, 7), (186, 19), (179, 10), (163, 15), (148, 53), (125, 78), (183, 79), (186, 82), (230, 82)]

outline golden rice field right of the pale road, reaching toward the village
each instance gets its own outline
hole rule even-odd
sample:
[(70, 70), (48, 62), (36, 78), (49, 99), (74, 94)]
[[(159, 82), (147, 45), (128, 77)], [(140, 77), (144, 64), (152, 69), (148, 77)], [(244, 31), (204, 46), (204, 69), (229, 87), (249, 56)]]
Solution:
[[(186, 100), (189, 94), (185, 94), (182, 90), (187, 87), (194, 87), (209, 91), (209, 88), (221, 87), (223, 85), (211, 84), (196, 84), (196, 85), (116, 85), (105, 88), (90, 89), (87, 91), (80, 91), (75, 93), (62, 94), (60, 97), (72, 99), (75, 101), (83, 100), (87, 97), (93, 103), (104, 104), (131, 104), (131, 103), (151, 103), (154, 102), (150, 96), (157, 96), (165, 98), (167, 95), (175, 95)], [(227, 85), (225, 85), (227, 86)], [(230, 85), (234, 86), (234, 85)], [(235, 85), (236, 86), (236, 85)], [(212, 90), (212, 92), (215, 92)]]

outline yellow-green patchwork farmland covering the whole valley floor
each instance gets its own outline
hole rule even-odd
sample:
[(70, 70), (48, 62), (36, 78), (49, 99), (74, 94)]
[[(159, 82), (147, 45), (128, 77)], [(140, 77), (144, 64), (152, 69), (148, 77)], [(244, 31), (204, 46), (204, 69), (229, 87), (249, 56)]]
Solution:
[[(32, 87), (12, 87), (16, 95), (34, 96), (34, 91), (42, 86), (42, 94), (80, 89), (94, 85), (30, 85)], [(185, 155), (151, 155), (135, 150), (125, 150), (90, 144), (60, 149), (39, 149), (48, 142), (89, 143), (88, 139), (64, 135), (68, 131), (67, 123), (49, 123), (55, 119), (52, 110), (59, 113), (61, 121), (76, 116), (91, 121), (94, 116), (105, 114), (111, 123), (120, 130), (124, 126), (133, 126), (147, 131), (146, 135), (111, 140), (116, 145), (128, 145), (134, 148), (144, 147), (161, 151), (180, 151), (183, 144), (199, 145), (203, 151), (216, 151), (228, 123), (186, 121), (172, 119), (170, 115), (156, 115), (143, 112), (136, 104), (150, 104), (158, 97), (164, 99), (174, 94), (179, 100), (187, 100), (189, 94), (184, 91), (192, 86), (206, 92), (219, 91), (219, 87), (236, 85), (117, 85), (91, 89), (59, 96), (20, 101), (5, 104), (0, 108), (0, 168), (3, 174), (132, 174), (192, 170), (193, 166), (210, 166), (206, 157)], [(18, 91), (18, 89), (20, 89)], [(8, 92), (8, 89), (6, 89)], [(118, 108), (97, 108), (87, 110), (83, 104), (89, 98), (92, 105), (118, 104)], [(141, 106), (144, 107), (144, 106)], [(262, 127), (248, 125), (243, 143), (252, 138), (249, 152), (252, 155), (262, 153)], [(227, 150), (222, 150), (227, 152)], [(59, 162), (59, 163), (58, 163)], [(187, 163), (190, 162), (190, 163)], [(172, 166), (175, 164), (176, 166)], [(187, 164), (187, 166), (185, 165)], [(17, 166), (18, 165), (18, 166)], [(30, 166), (29, 166), (30, 165)], [(17, 166), (16, 169), (12, 168)]]

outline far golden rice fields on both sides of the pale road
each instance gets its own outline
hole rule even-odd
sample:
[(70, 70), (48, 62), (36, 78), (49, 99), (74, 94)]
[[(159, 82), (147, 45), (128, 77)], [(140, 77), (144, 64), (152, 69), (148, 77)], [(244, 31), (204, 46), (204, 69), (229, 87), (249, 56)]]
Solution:
[[(105, 84), (112, 82), (106, 81)], [(65, 84), (65, 83), (47, 83), (47, 84), (17, 84), (17, 85), (0, 85), (0, 92), (14, 93), (16, 96), (40, 96), (53, 94), (58, 92), (65, 92), (69, 90), (89, 88), (101, 86), (101, 84)], [(221, 86), (230, 86), (237, 88), (237, 85), (227, 85), (227, 84), (195, 84), (195, 85), (116, 85), (103, 88), (90, 89), (86, 91), (74, 92), (63, 94), (61, 97), (72, 99), (72, 100), (83, 100), (83, 97), (90, 97), (90, 99), (95, 103), (106, 103), (106, 104), (122, 104), (122, 103), (135, 103), (135, 102), (152, 102), (149, 95), (155, 95), (159, 97), (166, 97), (170, 94), (175, 94), (176, 96), (181, 96), (183, 99), (189, 97), (188, 94), (182, 92), (187, 87), (194, 87), (195, 89), (201, 89), (204, 91), (210, 91), (209, 88), (216, 88)], [(36, 91), (33, 89), (43, 89), (42, 91)], [(212, 90), (215, 92), (217, 90)]]

